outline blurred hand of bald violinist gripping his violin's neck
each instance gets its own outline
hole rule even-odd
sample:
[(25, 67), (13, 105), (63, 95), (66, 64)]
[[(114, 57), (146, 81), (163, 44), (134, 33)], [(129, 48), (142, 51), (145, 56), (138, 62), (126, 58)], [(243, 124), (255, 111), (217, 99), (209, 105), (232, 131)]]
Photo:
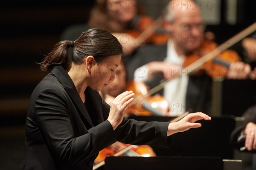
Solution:
[(246, 79), (251, 73), (251, 67), (244, 62), (232, 62), (230, 64), (228, 79)]

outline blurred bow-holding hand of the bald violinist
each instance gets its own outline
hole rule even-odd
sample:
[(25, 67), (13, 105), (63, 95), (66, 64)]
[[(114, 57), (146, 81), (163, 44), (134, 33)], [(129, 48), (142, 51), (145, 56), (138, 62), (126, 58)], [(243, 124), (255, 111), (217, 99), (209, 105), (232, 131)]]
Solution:
[(181, 67), (170, 62), (165, 61), (153, 61), (149, 62), (147, 65), (148, 77), (153, 77), (154, 74), (163, 73), (164, 79), (170, 79), (179, 74)]

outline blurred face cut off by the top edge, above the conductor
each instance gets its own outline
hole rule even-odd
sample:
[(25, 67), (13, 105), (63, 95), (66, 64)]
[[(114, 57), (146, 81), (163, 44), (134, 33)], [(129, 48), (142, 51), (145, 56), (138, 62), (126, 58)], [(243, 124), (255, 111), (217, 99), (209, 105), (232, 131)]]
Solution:
[(126, 23), (136, 16), (136, 4), (136, 0), (108, 0), (107, 10), (114, 20)]

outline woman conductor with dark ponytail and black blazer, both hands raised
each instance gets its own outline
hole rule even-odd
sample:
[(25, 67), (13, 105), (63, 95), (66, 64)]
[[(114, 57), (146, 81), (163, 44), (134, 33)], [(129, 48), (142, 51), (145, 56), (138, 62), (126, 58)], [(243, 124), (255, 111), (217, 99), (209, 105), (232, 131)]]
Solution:
[[(68, 56), (67, 49), (73, 48)], [(211, 118), (191, 113), (175, 123), (138, 122), (123, 112), (134, 93), (125, 91), (110, 107), (99, 92), (115, 79), (122, 45), (108, 31), (89, 29), (75, 41), (58, 42), (40, 63), (51, 71), (31, 95), (22, 170), (92, 170), (99, 151), (116, 141), (168, 147), (174, 133)]]

